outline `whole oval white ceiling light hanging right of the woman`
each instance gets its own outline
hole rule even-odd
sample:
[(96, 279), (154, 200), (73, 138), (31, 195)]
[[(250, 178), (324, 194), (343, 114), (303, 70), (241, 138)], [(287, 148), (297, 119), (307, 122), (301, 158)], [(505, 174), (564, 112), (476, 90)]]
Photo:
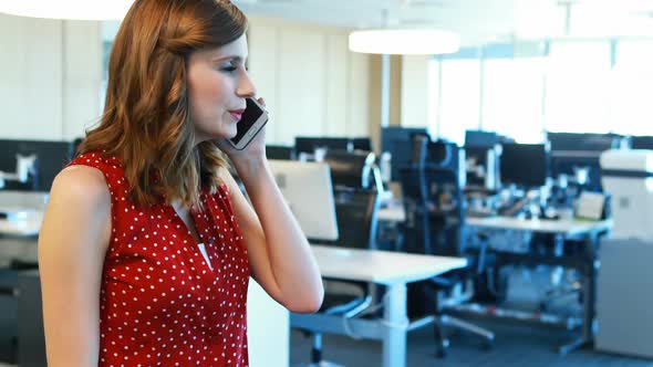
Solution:
[(456, 33), (434, 29), (364, 30), (349, 35), (349, 49), (361, 53), (435, 55), (454, 53), (459, 48)]

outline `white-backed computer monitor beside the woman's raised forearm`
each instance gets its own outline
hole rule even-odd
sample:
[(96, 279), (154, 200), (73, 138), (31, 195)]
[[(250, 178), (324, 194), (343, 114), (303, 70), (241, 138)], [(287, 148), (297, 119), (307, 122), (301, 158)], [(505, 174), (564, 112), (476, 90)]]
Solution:
[(312, 240), (338, 240), (331, 170), (325, 162), (269, 160), (274, 180), (299, 226)]

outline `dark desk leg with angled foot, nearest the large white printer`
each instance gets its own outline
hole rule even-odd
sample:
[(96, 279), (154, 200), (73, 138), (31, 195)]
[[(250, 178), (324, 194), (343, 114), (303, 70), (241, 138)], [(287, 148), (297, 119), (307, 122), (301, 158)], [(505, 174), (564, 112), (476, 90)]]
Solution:
[(590, 233), (585, 241), (585, 265), (583, 266), (583, 325), (581, 335), (569, 344), (559, 348), (561, 355), (567, 355), (578, 348), (594, 342), (597, 331), (597, 275), (600, 266), (599, 237)]

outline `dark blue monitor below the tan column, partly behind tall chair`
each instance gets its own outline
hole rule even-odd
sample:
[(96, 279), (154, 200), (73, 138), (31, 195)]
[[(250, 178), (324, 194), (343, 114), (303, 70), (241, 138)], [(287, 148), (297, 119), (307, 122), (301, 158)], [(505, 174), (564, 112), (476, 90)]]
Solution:
[(400, 169), (413, 160), (413, 137), (425, 135), (431, 138), (425, 127), (384, 127), (381, 130), (381, 150), (392, 156), (391, 181), (400, 181)]

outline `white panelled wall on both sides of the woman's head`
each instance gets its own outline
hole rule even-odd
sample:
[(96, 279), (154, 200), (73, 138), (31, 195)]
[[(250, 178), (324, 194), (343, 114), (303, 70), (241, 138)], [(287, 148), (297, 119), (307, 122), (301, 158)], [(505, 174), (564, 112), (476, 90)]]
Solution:
[[(72, 139), (101, 114), (100, 22), (0, 14), (0, 138)], [(343, 30), (253, 18), (250, 72), (272, 119), (268, 141), (370, 130), (370, 59)]]

